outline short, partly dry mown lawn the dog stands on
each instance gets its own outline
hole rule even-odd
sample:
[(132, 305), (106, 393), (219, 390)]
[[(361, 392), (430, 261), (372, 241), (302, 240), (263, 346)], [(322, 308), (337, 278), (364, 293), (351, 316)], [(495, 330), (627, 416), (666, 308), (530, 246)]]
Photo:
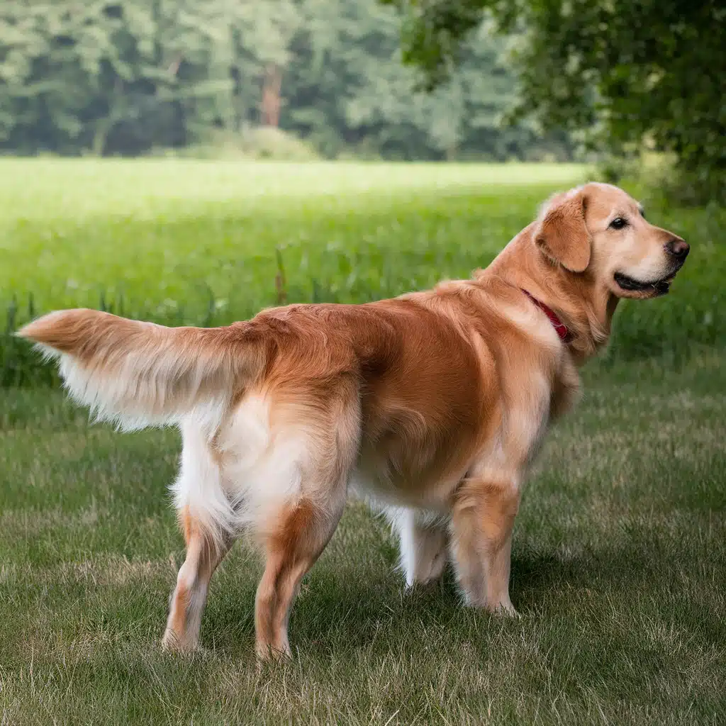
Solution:
[(60, 393), (6, 391), (0, 722), (721, 724), (724, 362), (588, 382), (523, 499), (521, 619), (460, 607), (450, 575), (404, 595), (386, 526), (351, 505), (295, 607), (295, 660), (261, 672), (244, 545), (213, 580), (208, 652), (160, 651), (183, 559), (176, 433), (89, 428)]

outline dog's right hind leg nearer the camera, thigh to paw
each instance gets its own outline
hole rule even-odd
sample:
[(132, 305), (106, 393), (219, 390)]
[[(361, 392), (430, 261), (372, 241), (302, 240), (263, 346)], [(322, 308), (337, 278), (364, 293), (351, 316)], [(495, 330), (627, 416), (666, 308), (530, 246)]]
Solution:
[[(290, 656), (287, 621), (303, 576), (333, 536), (345, 507), (348, 478), (359, 444), (359, 397), (351, 381), (325, 391), (277, 391), (271, 420), (274, 449), (269, 461), (293, 454), (298, 483), (279, 499), (261, 501), (256, 538), (265, 571), (255, 600), (256, 651), (259, 658)], [(313, 395), (315, 393), (315, 395)], [(274, 395), (272, 398), (274, 399)], [(267, 492), (283, 492), (269, 469)]]

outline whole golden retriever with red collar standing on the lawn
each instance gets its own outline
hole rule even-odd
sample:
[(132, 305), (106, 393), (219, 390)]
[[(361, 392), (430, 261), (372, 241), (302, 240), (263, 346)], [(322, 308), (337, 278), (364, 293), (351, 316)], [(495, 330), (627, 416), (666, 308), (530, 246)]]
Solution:
[(470, 280), (427, 292), (208, 329), (63, 310), (19, 335), (97, 417), (181, 428), (171, 492), (187, 555), (163, 645), (197, 648), (211, 576), (250, 531), (265, 558), (256, 653), (289, 656), (301, 579), (352, 491), (391, 518), (408, 586), (450, 559), (468, 605), (515, 614), (513, 524), (547, 426), (618, 301), (667, 293), (688, 251), (626, 192), (590, 183), (552, 197)]

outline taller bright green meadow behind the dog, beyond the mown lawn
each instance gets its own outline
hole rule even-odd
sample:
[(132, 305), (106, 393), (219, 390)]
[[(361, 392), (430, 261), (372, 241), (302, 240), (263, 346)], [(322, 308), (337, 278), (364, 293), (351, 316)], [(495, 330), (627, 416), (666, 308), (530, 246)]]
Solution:
[[(280, 299), (278, 250), (288, 301), (391, 297), (486, 266), (542, 200), (584, 174), (544, 164), (3, 160), (0, 304), (16, 311), (9, 328), (30, 317), (29, 293), (38, 313), (90, 306), (224, 325)], [(693, 252), (666, 298), (621, 305), (607, 365), (676, 363), (726, 346), (723, 209), (646, 204)], [(49, 380), (24, 341), (2, 340), (5, 385)]]

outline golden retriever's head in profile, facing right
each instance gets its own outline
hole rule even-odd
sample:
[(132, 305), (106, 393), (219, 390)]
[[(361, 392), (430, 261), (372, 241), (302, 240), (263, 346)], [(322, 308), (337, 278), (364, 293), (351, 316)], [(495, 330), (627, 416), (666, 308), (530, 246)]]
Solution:
[(553, 197), (534, 242), (551, 261), (570, 272), (587, 270), (619, 298), (665, 295), (689, 250), (676, 234), (645, 221), (622, 189), (595, 183)]

